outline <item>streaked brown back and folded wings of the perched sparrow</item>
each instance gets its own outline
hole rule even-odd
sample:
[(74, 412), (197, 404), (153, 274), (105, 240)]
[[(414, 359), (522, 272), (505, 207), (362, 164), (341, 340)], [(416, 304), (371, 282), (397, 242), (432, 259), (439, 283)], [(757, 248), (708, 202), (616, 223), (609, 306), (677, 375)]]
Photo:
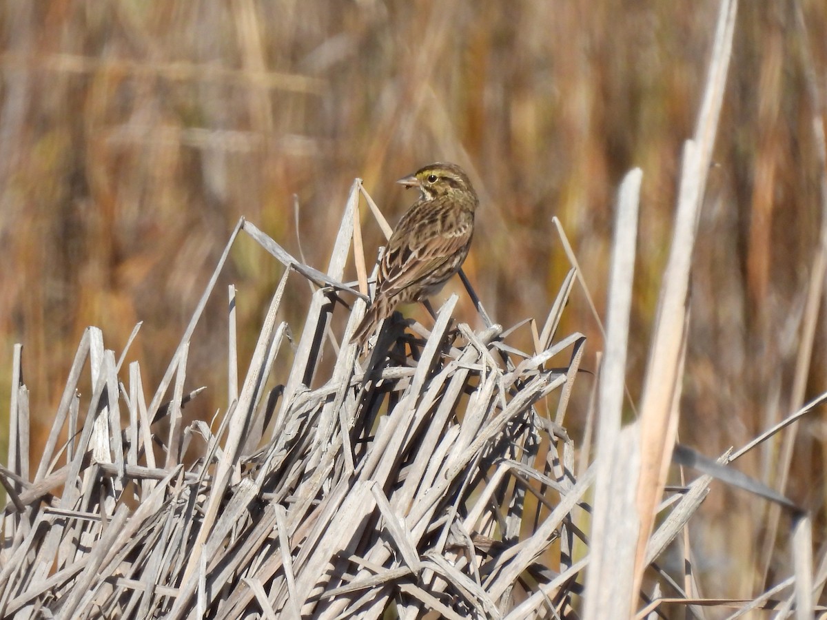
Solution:
[(437, 281), (439, 274), (442, 279), (450, 276), (465, 259), (473, 218), (472, 212), (457, 211), (438, 198), (414, 204), (399, 221), (382, 256), (379, 292), (393, 296), (427, 282), (429, 276)]

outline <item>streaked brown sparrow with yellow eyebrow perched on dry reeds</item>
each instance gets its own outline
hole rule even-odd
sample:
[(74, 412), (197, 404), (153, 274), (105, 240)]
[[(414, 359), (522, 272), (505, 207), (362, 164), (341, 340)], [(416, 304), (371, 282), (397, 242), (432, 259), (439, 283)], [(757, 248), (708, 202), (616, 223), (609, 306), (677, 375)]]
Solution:
[(471, 247), (480, 199), (458, 165), (427, 165), (397, 183), (418, 188), (420, 196), (399, 220), (382, 255), (373, 304), (353, 334), (360, 349), (397, 304), (422, 301), (442, 289)]

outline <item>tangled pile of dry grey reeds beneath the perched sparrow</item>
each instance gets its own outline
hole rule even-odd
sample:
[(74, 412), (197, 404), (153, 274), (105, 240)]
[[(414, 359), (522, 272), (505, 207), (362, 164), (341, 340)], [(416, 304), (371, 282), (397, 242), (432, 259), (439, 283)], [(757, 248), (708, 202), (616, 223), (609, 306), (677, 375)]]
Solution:
[[(562, 427), (584, 338), (553, 341), (573, 277), (542, 333), (534, 329), (533, 354), (506, 346), (499, 326), (475, 332), (452, 322), (454, 295), (429, 334), (414, 326), (427, 339), (399, 338), (388, 351), (388, 336), (399, 332), (389, 322), (360, 363), (347, 338), (365, 302), (338, 283), (360, 189), (356, 182), (327, 274), (249, 222), (233, 233), (224, 259), (244, 230), (288, 269), (243, 387), (212, 427), (183, 428), (181, 407), (197, 394), (184, 395), (187, 349), (215, 277), (149, 406), (136, 363), (128, 381), (119, 378), (127, 351), (116, 360), (100, 330), (86, 331), (31, 482), (17, 371), (18, 466), (2, 476), (11, 498), (5, 617), (378, 618), (394, 604), (406, 617), (487, 618), (566, 603), (582, 568), (566, 558), (581, 541), (576, 522), (586, 514), (577, 507), (591, 479), (577, 482)], [(265, 391), (289, 333), (276, 317), (296, 273), (321, 288), (289, 379)], [(345, 311), (340, 295), (356, 299), (341, 346), (328, 325), (332, 312)], [(337, 357), (323, 365), (326, 341)], [(234, 369), (232, 327), (230, 343)], [(571, 363), (548, 369), (559, 354)], [(84, 399), (87, 365), (94, 390)], [(173, 398), (162, 404), (173, 375)], [(69, 440), (58, 449), (60, 436)]]

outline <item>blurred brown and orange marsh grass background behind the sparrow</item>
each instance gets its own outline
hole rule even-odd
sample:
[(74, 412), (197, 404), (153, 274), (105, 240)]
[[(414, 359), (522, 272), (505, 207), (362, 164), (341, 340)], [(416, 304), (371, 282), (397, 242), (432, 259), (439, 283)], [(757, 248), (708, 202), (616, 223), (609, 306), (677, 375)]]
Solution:
[[(681, 410), (681, 441), (706, 455), (742, 446), (794, 406), (825, 174), (794, 6), (739, 7), (697, 243)], [(801, 7), (824, 98), (827, 4)], [(553, 216), (603, 308), (614, 193), (629, 168), (643, 169), (629, 360), (637, 398), (717, 8), (713, 0), (3, 2), (2, 402), (12, 346), (22, 342), (37, 454), (86, 326), (102, 327), (120, 351), (143, 321), (130, 358), (155, 386), (239, 217), (323, 269), (352, 179), (364, 179), (395, 222), (414, 196), (394, 179), (434, 160), (465, 167), (480, 193), (465, 269), (505, 326), (545, 316), (569, 268)], [(362, 221), (372, 262), (380, 231), (366, 213)], [(222, 283), (240, 289), (244, 355), (280, 274), (255, 244), (237, 243)], [(299, 284), (284, 317), (294, 332), (307, 298)], [(560, 333), (589, 336), (584, 366), (593, 370), (600, 335), (575, 297)], [(210, 302), (193, 340), (189, 376), (203, 378), (199, 385), (226, 385), (225, 306)], [(467, 300), (459, 312), (476, 320)], [(827, 389), (825, 336), (820, 321), (808, 396)], [(528, 332), (520, 337), (528, 346)], [(592, 379), (578, 383), (585, 411)], [(224, 406), (226, 393), (210, 389), (187, 413), (210, 417)], [(823, 412), (801, 423), (786, 489), (815, 511), (817, 547), (827, 542), (825, 433)], [(773, 484), (779, 446), (768, 442), (739, 468)], [(691, 530), (705, 550), (696, 558), (703, 594), (762, 588), (766, 512), (723, 487), (710, 495), (703, 527)], [(783, 568), (772, 565), (768, 582)]]

